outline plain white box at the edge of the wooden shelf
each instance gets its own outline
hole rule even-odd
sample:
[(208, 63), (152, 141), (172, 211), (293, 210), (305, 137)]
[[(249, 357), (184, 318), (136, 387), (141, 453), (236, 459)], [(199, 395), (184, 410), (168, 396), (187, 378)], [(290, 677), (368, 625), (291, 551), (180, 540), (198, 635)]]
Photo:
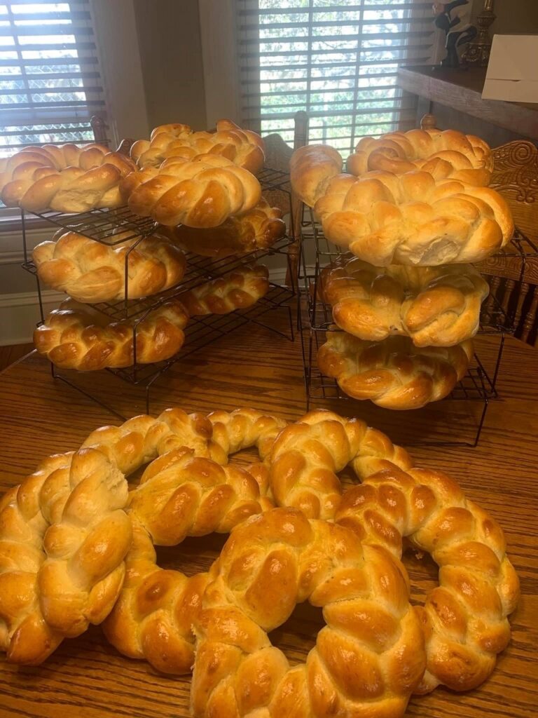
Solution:
[(538, 103), (538, 35), (494, 35), (482, 99)]

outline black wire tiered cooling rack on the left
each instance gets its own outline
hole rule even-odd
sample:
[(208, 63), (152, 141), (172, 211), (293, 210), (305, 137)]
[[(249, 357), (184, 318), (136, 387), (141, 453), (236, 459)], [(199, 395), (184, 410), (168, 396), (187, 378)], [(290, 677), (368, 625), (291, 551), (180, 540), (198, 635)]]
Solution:
[[(277, 169), (265, 168), (258, 175), (258, 180), (262, 186), (263, 192), (281, 192), (283, 193), (284, 203), (289, 206), (289, 221), (293, 222), (293, 213), (291, 212), (291, 186), (289, 182), (288, 172)], [(93, 241), (115, 246), (129, 240), (134, 240), (133, 244), (126, 252), (125, 259), (125, 286), (128, 287), (128, 255), (133, 251), (143, 238), (151, 235), (156, 230), (156, 225), (151, 218), (138, 217), (126, 207), (115, 209), (95, 209), (89, 212), (65, 215), (59, 212), (47, 211), (37, 214), (39, 218), (47, 220), (47, 222), (55, 225), (57, 228), (65, 231), (73, 231), (82, 234)], [(119, 236), (118, 236), (119, 235)], [(133, 323), (133, 345), (136, 348), (136, 327), (144, 320), (150, 312), (160, 307), (164, 302), (169, 302), (182, 292), (187, 292), (207, 281), (218, 279), (230, 272), (246, 266), (258, 264), (264, 258), (269, 256), (280, 255), (285, 258), (288, 266), (289, 274), (289, 255), (288, 248), (293, 244), (293, 226), (288, 230), (288, 234), (276, 241), (273, 246), (266, 249), (260, 249), (241, 256), (227, 256), (218, 259), (199, 256), (193, 253), (185, 253), (187, 259), (187, 271), (181, 282), (166, 292), (161, 292), (151, 297), (142, 299), (121, 299), (118, 302), (98, 302), (92, 304), (94, 309), (98, 309), (112, 321), (131, 320)], [(39, 312), (41, 321), (44, 322), (44, 307), (42, 300), (42, 289), (39, 282), (37, 268), (29, 254), (27, 244), (27, 223), (24, 211), (22, 212), (22, 241), (24, 251), (23, 268), (36, 277), (37, 294), (39, 299)], [(127, 291), (125, 292), (127, 294)], [(189, 354), (207, 347), (215, 340), (230, 334), (237, 328), (242, 327), (248, 322), (263, 326), (268, 330), (283, 335), (288, 340), (293, 341), (295, 337), (294, 320), (291, 307), (295, 307), (296, 292), (292, 286), (281, 286), (270, 283), (270, 289), (265, 297), (262, 297), (253, 307), (248, 309), (236, 310), (230, 314), (217, 315), (209, 314), (207, 317), (191, 317), (185, 329), (184, 345), (174, 357), (168, 360), (154, 364), (136, 363), (136, 350), (134, 352), (133, 365), (121, 369), (107, 369), (109, 373), (115, 374), (119, 378), (136, 386), (146, 388), (146, 411), (149, 412), (150, 406), (150, 390), (151, 386), (159, 379), (172, 365), (186, 358)], [(275, 328), (273, 322), (265, 322), (265, 314), (281, 309), (287, 314), (288, 330), (282, 332)], [(52, 376), (61, 379), (78, 391), (81, 391), (93, 401), (112, 411), (110, 406), (105, 404), (97, 396), (98, 382), (96, 382), (95, 392), (88, 392), (81, 386), (77, 386), (77, 372), (58, 370), (51, 365)], [(98, 374), (98, 373), (97, 373)]]

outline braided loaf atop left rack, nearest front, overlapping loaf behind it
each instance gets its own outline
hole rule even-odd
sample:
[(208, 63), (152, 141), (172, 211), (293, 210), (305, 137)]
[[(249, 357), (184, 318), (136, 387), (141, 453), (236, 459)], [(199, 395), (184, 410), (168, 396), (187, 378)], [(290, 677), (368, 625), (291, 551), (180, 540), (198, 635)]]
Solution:
[(261, 199), (254, 175), (217, 154), (171, 157), (159, 169), (131, 172), (120, 191), (136, 215), (172, 227), (218, 227)]

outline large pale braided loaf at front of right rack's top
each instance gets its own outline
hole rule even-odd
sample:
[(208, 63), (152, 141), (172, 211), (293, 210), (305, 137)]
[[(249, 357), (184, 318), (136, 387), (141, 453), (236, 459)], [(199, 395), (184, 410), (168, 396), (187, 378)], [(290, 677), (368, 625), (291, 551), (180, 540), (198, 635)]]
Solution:
[(314, 209), (327, 239), (376, 266), (480, 261), (514, 231), (499, 192), (428, 172), (339, 174)]

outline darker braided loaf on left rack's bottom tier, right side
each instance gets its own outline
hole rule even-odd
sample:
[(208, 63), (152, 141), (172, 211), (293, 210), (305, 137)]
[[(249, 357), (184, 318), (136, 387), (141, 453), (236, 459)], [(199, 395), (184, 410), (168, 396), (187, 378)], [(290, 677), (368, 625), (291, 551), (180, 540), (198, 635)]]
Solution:
[(197, 314), (228, 314), (247, 309), (269, 291), (269, 270), (263, 264), (232, 271), (207, 281), (201, 286), (181, 292), (179, 301), (191, 316)]

